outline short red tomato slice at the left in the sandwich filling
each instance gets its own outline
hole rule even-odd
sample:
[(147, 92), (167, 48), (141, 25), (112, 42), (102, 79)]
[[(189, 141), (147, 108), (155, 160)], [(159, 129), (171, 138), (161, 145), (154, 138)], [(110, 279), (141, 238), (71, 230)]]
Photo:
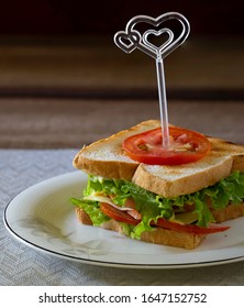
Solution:
[(110, 217), (117, 221), (125, 222), (125, 223), (133, 224), (133, 226), (136, 226), (140, 222), (138, 220), (133, 218), (127, 212), (120, 211), (119, 209), (117, 209), (108, 204), (100, 204), (100, 209), (104, 215), (107, 215), (108, 217)]

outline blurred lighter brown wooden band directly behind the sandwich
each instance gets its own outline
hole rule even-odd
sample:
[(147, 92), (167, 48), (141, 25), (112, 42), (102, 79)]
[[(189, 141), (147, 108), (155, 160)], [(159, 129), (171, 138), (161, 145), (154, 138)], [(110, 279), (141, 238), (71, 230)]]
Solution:
[[(244, 143), (244, 100), (169, 100), (175, 125)], [(68, 148), (107, 138), (148, 119), (158, 101), (0, 98), (0, 148)]]

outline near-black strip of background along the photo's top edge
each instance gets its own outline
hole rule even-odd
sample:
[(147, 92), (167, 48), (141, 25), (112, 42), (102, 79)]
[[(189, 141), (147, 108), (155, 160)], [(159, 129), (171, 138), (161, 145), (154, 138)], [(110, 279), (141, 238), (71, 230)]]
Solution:
[(156, 18), (178, 11), (191, 24), (191, 35), (243, 35), (241, 0), (9, 0), (1, 1), (1, 35), (108, 34), (122, 30), (136, 14)]

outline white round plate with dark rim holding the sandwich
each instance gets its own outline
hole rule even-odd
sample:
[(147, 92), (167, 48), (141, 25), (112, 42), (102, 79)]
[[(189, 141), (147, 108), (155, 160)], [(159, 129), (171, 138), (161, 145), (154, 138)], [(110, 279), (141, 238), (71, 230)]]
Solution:
[(87, 176), (73, 172), (36, 184), (5, 208), (4, 223), (18, 240), (53, 255), (95, 265), (133, 268), (207, 266), (244, 260), (244, 218), (225, 222), (193, 251), (131, 240), (80, 224), (69, 199), (79, 198)]

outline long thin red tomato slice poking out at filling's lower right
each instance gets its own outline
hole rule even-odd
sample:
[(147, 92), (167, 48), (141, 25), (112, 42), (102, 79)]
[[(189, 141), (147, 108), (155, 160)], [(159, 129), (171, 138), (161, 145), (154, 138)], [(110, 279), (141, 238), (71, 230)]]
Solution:
[(153, 226), (175, 230), (178, 232), (186, 232), (186, 233), (193, 233), (193, 234), (211, 234), (217, 232), (223, 232), (230, 229), (230, 227), (225, 226), (218, 226), (218, 224), (210, 224), (208, 228), (199, 227), (196, 224), (180, 224), (177, 222), (168, 221), (164, 218), (158, 218), (157, 223), (152, 223)]

